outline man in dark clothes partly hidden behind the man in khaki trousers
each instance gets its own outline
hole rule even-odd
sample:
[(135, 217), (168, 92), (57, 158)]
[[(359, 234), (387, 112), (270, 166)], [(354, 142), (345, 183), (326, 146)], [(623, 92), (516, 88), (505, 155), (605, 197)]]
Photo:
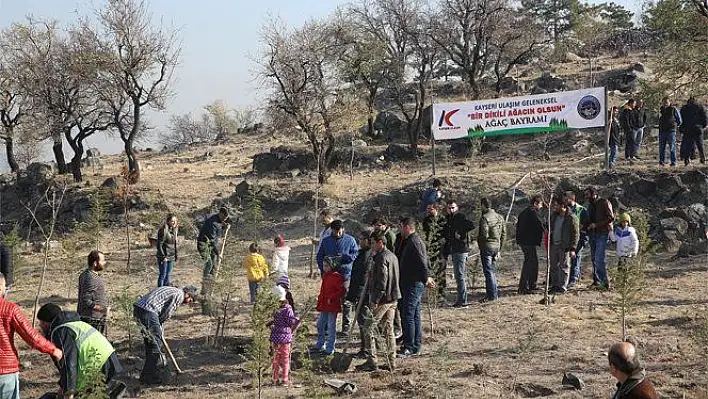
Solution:
[(347, 290), (346, 296), (346, 300), (351, 302), (354, 306), (361, 306), (359, 316), (356, 319), (356, 322), (359, 324), (361, 344), (359, 353), (355, 355), (355, 357), (360, 358), (368, 357), (367, 346), (365, 345), (366, 331), (364, 330), (364, 325), (366, 324), (367, 316), (371, 314), (371, 309), (369, 308), (369, 300), (366, 293), (364, 293), (361, 305), (359, 305), (359, 298), (361, 298), (362, 290), (364, 289), (366, 274), (371, 269), (373, 251), (371, 250), (369, 240), (372, 233), (373, 229), (365, 229), (359, 235), (359, 253), (356, 255), (356, 259), (352, 265), (352, 275), (349, 280), (349, 290)]

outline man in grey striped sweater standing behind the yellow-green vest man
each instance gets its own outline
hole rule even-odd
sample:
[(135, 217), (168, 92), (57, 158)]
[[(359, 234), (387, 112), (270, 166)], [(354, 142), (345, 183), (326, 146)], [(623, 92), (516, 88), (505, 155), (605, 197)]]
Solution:
[(106, 284), (98, 274), (106, 267), (106, 258), (100, 251), (88, 254), (88, 267), (79, 276), (79, 300), (76, 312), (81, 321), (90, 324), (101, 334), (106, 332), (108, 294)]

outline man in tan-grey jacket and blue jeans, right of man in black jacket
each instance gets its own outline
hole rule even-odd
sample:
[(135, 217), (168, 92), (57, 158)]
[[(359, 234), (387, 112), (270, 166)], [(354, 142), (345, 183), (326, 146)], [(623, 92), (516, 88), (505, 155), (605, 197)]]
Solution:
[(477, 245), (482, 260), (484, 284), (487, 292), (486, 296), (480, 300), (484, 303), (499, 299), (496, 268), (499, 252), (501, 252), (506, 238), (506, 221), (504, 217), (494, 212), (488, 198), (482, 198), (479, 204), (482, 207), (482, 216), (479, 218)]

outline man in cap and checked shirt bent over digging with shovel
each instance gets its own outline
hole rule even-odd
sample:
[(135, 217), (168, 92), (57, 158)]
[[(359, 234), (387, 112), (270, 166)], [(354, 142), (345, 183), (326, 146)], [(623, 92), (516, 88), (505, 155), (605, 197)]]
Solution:
[(170, 378), (163, 350), (162, 325), (182, 303), (194, 301), (197, 288), (158, 287), (141, 297), (133, 306), (133, 316), (141, 326), (145, 343), (145, 365), (140, 373), (143, 384), (159, 384)]

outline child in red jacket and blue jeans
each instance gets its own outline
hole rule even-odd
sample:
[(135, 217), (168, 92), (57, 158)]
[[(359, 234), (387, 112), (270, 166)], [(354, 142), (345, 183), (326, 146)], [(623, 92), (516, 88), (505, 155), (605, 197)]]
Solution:
[(344, 277), (339, 274), (335, 260), (327, 257), (323, 262), (322, 286), (317, 297), (317, 343), (315, 350), (329, 356), (334, 354), (337, 343), (337, 313), (342, 311)]

